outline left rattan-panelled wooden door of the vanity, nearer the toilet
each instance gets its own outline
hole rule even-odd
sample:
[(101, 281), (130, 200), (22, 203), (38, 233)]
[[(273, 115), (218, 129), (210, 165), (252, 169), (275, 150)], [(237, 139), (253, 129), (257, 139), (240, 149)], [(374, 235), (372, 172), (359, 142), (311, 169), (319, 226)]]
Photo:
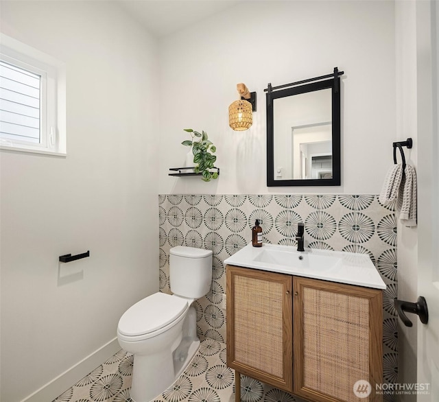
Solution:
[(292, 392), (292, 276), (231, 265), (227, 365)]

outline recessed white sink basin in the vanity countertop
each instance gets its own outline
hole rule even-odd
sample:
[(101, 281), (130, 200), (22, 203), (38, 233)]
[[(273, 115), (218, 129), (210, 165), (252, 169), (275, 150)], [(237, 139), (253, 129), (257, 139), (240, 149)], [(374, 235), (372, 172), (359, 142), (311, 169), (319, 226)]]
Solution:
[(313, 270), (329, 270), (342, 262), (340, 257), (321, 255), (318, 251), (299, 252), (292, 250), (278, 250), (263, 248), (253, 259), (255, 262), (282, 265), (289, 268), (312, 268)]

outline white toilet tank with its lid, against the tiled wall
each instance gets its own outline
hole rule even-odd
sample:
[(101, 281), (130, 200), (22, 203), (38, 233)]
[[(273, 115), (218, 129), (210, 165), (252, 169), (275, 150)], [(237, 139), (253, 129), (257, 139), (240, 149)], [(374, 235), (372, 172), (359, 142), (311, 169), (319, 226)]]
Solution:
[(206, 295), (212, 283), (212, 251), (176, 246), (169, 250), (171, 291), (187, 298)]

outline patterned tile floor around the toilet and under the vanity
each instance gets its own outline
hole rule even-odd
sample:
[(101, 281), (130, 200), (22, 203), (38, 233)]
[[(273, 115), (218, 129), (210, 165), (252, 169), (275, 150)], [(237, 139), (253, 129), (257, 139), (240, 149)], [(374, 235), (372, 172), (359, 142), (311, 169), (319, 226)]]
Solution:
[[(130, 402), (133, 357), (119, 351), (52, 402)], [(235, 372), (226, 366), (226, 344), (206, 338), (186, 370), (152, 402), (235, 401)], [(241, 375), (241, 401), (294, 402), (276, 388)]]

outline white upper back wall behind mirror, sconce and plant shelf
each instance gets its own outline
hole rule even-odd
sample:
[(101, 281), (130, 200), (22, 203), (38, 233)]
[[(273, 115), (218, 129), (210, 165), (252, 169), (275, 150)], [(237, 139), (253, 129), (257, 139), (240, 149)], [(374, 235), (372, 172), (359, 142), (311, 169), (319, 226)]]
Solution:
[[(161, 193), (379, 193), (396, 136), (393, 1), (255, 1), (161, 40)], [(266, 187), (268, 82), (342, 78), (342, 186)], [(250, 130), (228, 127), (236, 84), (257, 91)], [(217, 145), (219, 179), (168, 177), (183, 128)]]

